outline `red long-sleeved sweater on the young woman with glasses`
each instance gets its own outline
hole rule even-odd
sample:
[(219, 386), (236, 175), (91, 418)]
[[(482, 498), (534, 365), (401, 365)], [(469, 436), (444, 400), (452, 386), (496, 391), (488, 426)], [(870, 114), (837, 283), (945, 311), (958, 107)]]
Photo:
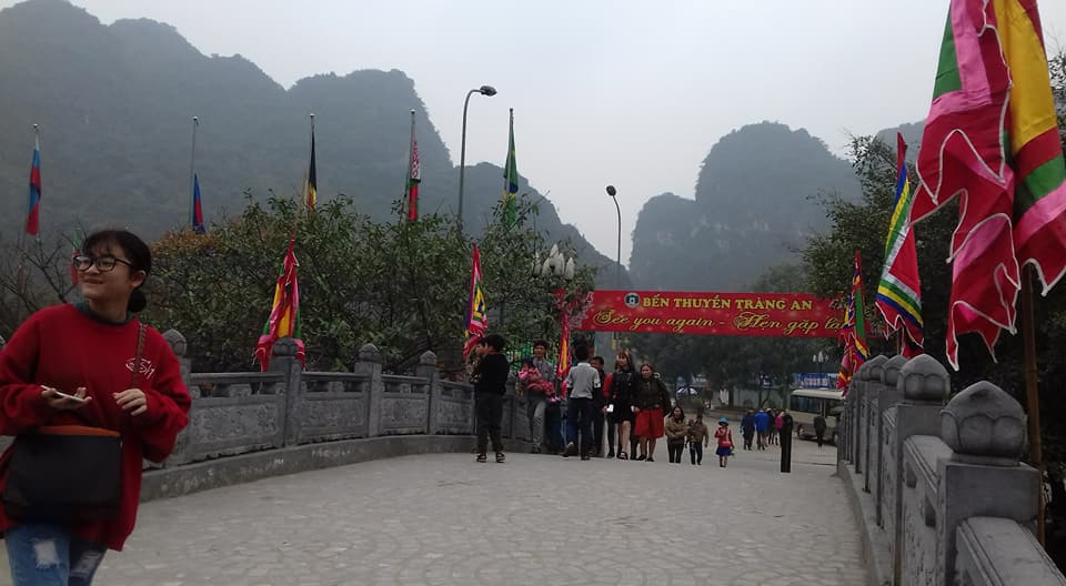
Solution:
[[(178, 358), (163, 336), (148, 327), (137, 387), (148, 411), (132, 416), (113, 393), (130, 386), (137, 353), (138, 321), (109, 324), (73, 305), (57, 305), (30, 316), (0, 352), (0, 434), (18, 435), (40, 425), (89, 424), (122, 433), (122, 505), (108, 522), (74, 527), (83, 539), (122, 549), (133, 531), (141, 494), (141, 458), (162, 462), (174, 448), (192, 400)], [(92, 401), (77, 412), (58, 411), (41, 398), (41, 386), (73, 393), (84, 386)], [(74, 415), (77, 413), (77, 415)], [(16, 440), (18, 441), (18, 440)], [(7, 482), (10, 449), (0, 456), (0, 491)], [(17, 525), (0, 507), (0, 531)]]

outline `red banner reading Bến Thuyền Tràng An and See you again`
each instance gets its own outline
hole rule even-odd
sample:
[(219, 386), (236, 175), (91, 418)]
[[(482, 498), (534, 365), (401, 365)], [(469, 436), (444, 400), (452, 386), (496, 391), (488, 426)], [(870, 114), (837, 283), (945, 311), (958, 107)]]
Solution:
[(593, 291), (575, 330), (836, 337), (843, 317), (838, 301), (807, 293)]

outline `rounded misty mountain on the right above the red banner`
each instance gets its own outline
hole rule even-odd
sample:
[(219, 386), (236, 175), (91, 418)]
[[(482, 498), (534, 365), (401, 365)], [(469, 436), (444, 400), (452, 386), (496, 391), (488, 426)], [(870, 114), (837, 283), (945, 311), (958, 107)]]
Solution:
[(858, 193), (851, 164), (805, 130), (746, 125), (711, 149), (694, 200), (664, 193), (644, 204), (631, 274), (647, 289), (743, 290), (827, 225), (819, 195)]

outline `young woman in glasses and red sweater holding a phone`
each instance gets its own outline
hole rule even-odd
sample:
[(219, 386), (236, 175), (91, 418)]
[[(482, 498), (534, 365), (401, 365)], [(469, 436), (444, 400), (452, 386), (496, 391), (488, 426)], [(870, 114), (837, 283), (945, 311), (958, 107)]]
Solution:
[[(144, 329), (137, 360), (141, 325), (134, 313), (144, 309), (140, 287), (151, 265), (148, 245), (130, 232), (90, 235), (73, 259), (84, 301), (34, 313), (0, 352), (0, 434), (88, 425), (122, 436), (122, 497), (112, 518), (46, 523), (11, 518), (0, 508), (16, 586), (91, 584), (107, 549), (122, 549), (133, 531), (141, 458), (165, 459), (189, 422), (189, 392), (159, 332)], [(10, 457), (10, 448), (0, 456), (0, 492)]]

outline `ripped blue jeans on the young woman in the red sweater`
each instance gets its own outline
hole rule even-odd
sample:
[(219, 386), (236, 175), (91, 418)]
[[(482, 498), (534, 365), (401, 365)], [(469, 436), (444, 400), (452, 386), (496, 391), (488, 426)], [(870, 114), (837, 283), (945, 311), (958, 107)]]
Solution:
[(3, 532), (14, 586), (89, 586), (108, 548), (66, 525), (23, 523)]

